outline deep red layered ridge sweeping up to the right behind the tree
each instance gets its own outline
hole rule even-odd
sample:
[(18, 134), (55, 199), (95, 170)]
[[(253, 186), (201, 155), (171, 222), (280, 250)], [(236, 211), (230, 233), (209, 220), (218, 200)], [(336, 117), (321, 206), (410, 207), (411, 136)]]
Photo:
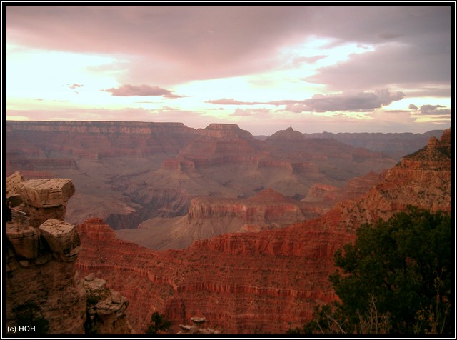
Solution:
[(451, 140), (448, 129), (403, 157), (363, 196), (283, 229), (153, 251), (116, 239), (102, 219), (88, 219), (78, 226), (77, 266), (83, 274), (99, 272), (107, 286), (129, 299), (127, 316), (139, 333), (159, 311), (171, 320), (171, 333), (199, 315), (221, 334), (285, 334), (308, 321), (316, 304), (337, 299), (328, 281), (333, 253), (355, 238), (360, 224), (408, 204), (452, 211)]

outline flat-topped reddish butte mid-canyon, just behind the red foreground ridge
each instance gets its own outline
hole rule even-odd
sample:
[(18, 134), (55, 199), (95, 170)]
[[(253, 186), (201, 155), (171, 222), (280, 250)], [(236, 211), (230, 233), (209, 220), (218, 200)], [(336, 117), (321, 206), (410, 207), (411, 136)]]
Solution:
[(182, 249), (220, 234), (277, 229), (304, 220), (300, 202), (264, 189), (249, 199), (199, 196), (181, 219), (149, 219), (138, 229), (116, 231), (116, 235), (150, 249)]

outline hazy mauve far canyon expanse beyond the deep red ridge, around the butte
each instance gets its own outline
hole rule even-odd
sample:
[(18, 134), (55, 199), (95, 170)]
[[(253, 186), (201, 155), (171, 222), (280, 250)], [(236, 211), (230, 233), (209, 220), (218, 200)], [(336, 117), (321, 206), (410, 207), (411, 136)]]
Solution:
[[(70, 178), (78, 190), (66, 207), (68, 221), (99, 217), (126, 240), (161, 234), (161, 242), (144, 242), (159, 250), (243, 228), (241, 220), (231, 224), (230, 216), (218, 217), (224, 224), (190, 223), (195, 202), (209, 206), (215, 199), (220, 206), (219, 199), (251, 199), (268, 189), (294, 201), (301, 210), (296, 222), (320, 216), (336, 201), (350, 198), (344, 196), (350, 192), (348, 181), (381, 174), (396, 164), (401, 150), (438, 132), (393, 134), (389, 138), (401, 143), (386, 148), (385, 138), (368, 143), (378, 134), (353, 136), (358, 146), (351, 146), (331, 134), (315, 138), (292, 128), (256, 138), (236, 124), (193, 129), (181, 123), (6, 121), (5, 168), (6, 175), (21, 171), (26, 179)], [(361, 148), (362, 140), (390, 154)], [(342, 196), (329, 199), (330, 191), (317, 187), (339, 189)], [(276, 220), (285, 219), (281, 214)], [(272, 226), (244, 224), (245, 231)]]

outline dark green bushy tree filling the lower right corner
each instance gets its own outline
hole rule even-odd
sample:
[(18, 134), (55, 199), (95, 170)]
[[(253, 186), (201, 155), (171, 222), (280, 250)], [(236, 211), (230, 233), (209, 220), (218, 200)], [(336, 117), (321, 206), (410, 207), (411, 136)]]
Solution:
[(409, 207), (366, 224), (336, 251), (330, 280), (341, 303), (289, 333), (452, 334), (451, 216)]

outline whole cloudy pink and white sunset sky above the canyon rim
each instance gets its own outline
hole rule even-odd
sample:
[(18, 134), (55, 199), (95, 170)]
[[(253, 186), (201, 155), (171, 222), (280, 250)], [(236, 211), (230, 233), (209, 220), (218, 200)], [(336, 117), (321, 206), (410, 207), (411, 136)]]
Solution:
[(253, 135), (451, 126), (444, 6), (6, 4), (6, 120), (238, 124)]

